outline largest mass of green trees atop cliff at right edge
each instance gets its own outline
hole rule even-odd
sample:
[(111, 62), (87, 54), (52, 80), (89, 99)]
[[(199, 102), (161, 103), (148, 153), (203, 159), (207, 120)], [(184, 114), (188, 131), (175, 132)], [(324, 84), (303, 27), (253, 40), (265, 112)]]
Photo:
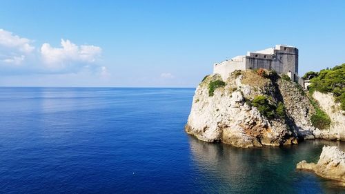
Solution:
[[(304, 77), (310, 75), (311, 72), (307, 72)], [(310, 80), (311, 86), (309, 88), (311, 92), (317, 90), (321, 93), (333, 93), (335, 100), (341, 103), (342, 110), (345, 110), (345, 64), (321, 70), (314, 75), (315, 77)]]

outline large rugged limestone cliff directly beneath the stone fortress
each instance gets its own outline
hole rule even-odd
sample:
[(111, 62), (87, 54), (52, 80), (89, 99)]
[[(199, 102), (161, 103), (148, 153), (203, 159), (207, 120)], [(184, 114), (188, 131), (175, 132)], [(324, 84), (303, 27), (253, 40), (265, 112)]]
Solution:
[[(210, 75), (199, 84), (186, 124), (186, 132), (206, 142), (224, 142), (239, 147), (297, 144), (297, 139), (313, 138), (310, 122), (313, 106), (297, 86), (285, 80), (271, 81), (253, 70), (235, 72), (224, 87), (209, 93)], [(252, 106), (258, 95), (267, 96), (271, 104), (286, 106), (286, 117), (268, 119)]]

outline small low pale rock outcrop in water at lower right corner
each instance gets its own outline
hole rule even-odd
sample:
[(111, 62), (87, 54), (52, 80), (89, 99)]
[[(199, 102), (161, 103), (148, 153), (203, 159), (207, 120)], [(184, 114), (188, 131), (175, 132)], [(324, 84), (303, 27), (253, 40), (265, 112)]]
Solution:
[(296, 168), (314, 171), (321, 177), (345, 183), (345, 153), (336, 146), (324, 146), (317, 164), (304, 160)]

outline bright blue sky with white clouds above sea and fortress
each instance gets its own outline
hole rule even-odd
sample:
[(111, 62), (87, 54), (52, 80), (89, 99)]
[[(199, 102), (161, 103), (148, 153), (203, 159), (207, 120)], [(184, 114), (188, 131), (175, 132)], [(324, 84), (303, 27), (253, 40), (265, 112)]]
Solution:
[(345, 1), (0, 2), (0, 86), (195, 87), (248, 50), (345, 62)]

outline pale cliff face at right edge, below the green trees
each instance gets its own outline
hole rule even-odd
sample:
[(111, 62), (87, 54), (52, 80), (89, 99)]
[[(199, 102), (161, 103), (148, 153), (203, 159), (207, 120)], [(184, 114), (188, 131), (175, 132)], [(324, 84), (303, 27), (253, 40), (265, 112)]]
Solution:
[(345, 111), (335, 102), (333, 95), (315, 91), (313, 98), (317, 100), (322, 110), (331, 118), (331, 126), (326, 130), (315, 130), (315, 137), (321, 139), (345, 140)]

